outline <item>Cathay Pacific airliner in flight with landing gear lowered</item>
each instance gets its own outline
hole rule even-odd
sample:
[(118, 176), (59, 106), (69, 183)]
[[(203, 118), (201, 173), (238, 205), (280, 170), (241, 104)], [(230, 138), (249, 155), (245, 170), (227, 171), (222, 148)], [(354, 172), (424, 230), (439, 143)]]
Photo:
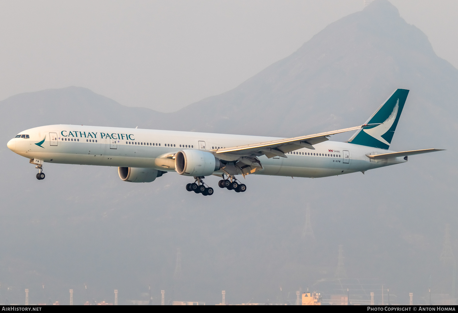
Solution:
[[(212, 195), (203, 182), (221, 177), (220, 188), (245, 192), (236, 175), (319, 178), (403, 163), (408, 156), (443, 149), (390, 151), (409, 90), (397, 89), (365, 124), (293, 138), (147, 130), (85, 125), (48, 125), (24, 130), (11, 139), (11, 151), (36, 165), (44, 163), (118, 167), (125, 182), (149, 183), (168, 172), (193, 177), (187, 191)], [(346, 142), (331, 135), (356, 130)], [(240, 176), (239, 176), (240, 177)]]

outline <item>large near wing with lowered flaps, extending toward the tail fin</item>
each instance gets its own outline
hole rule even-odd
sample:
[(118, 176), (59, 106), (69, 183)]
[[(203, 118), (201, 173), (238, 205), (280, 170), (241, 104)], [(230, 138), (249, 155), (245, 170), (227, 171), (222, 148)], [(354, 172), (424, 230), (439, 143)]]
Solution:
[[(379, 123), (380, 124), (380, 123)], [(359, 130), (361, 128), (371, 127), (378, 124), (364, 124), (360, 126), (344, 128), (342, 130), (333, 130), (327, 131), (324, 133), (313, 134), (313, 135), (306, 135), (306, 136), (299, 136), (293, 138), (285, 138), (285, 139), (278, 139), (266, 142), (259, 142), (254, 144), (248, 144), (244, 146), (234, 146), (234, 147), (227, 147), (222, 149), (214, 149), (210, 150), (217, 157), (221, 157), (223, 159), (228, 159), (228, 157), (248, 157), (248, 156), (262, 156), (263, 154), (266, 155), (268, 158), (271, 157), (287, 157), (285, 153), (294, 151), (301, 148), (308, 148), (313, 149), (313, 145), (329, 140), (327, 137), (330, 135), (344, 133), (346, 131), (351, 130)], [(224, 157), (225, 156), (225, 157)], [(230, 158), (229, 157), (229, 158)]]

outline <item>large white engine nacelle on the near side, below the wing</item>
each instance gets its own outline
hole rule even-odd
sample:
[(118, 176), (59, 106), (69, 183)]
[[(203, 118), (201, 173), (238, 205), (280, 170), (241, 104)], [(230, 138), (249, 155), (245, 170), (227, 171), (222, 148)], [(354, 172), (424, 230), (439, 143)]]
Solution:
[(184, 176), (208, 176), (221, 168), (221, 162), (210, 152), (181, 150), (175, 154), (175, 171)]

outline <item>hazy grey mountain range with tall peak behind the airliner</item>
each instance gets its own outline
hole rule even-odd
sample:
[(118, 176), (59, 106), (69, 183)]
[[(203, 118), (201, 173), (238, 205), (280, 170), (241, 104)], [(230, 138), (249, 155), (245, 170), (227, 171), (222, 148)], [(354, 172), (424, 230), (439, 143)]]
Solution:
[[(229, 303), (294, 300), (299, 288), (333, 279), (339, 244), (348, 276), (388, 285), (393, 302), (407, 303), (409, 292), (421, 301), (429, 286), (450, 293), (451, 269), (438, 264), (446, 223), (458, 248), (457, 85), (458, 70), (425, 34), (376, 0), (233, 90), (175, 113), (128, 108), (80, 87), (5, 99), (0, 301), (22, 302), (28, 288), (30, 302), (66, 303), (72, 288), (78, 304), (112, 302), (113, 289), (127, 303), (147, 299), (149, 284), (155, 303), (160, 290), (166, 301), (219, 303), (221, 290)], [(312, 134), (365, 122), (396, 88), (410, 93), (391, 148), (447, 151), (364, 176), (248, 176), (244, 194), (215, 189), (202, 197), (174, 173), (134, 184), (116, 168), (52, 164), (38, 181), (33, 166), (6, 148), (19, 131), (46, 124)], [(314, 245), (301, 237), (307, 203)], [(182, 273), (174, 275), (177, 248)]]

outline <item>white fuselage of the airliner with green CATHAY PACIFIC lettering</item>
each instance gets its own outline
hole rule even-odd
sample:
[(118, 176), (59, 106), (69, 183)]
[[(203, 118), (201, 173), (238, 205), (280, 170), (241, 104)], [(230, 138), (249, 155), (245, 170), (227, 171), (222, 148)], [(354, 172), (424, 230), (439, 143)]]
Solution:
[[(48, 163), (144, 167), (174, 171), (173, 161), (161, 156), (183, 149), (212, 150), (277, 140), (276, 137), (144, 130), (83, 125), (49, 125), (24, 130), (29, 138), (13, 138), (8, 147), (29, 159)], [(56, 140), (53, 138), (55, 137)], [(37, 143), (43, 143), (38, 146)], [(181, 145), (181, 146), (180, 146)], [(326, 177), (364, 172), (406, 162), (403, 157), (372, 160), (366, 155), (391, 151), (346, 142), (325, 141), (315, 150), (302, 148), (284, 157), (259, 157), (262, 169), (255, 174)], [(223, 174), (224, 172), (215, 172)]]

